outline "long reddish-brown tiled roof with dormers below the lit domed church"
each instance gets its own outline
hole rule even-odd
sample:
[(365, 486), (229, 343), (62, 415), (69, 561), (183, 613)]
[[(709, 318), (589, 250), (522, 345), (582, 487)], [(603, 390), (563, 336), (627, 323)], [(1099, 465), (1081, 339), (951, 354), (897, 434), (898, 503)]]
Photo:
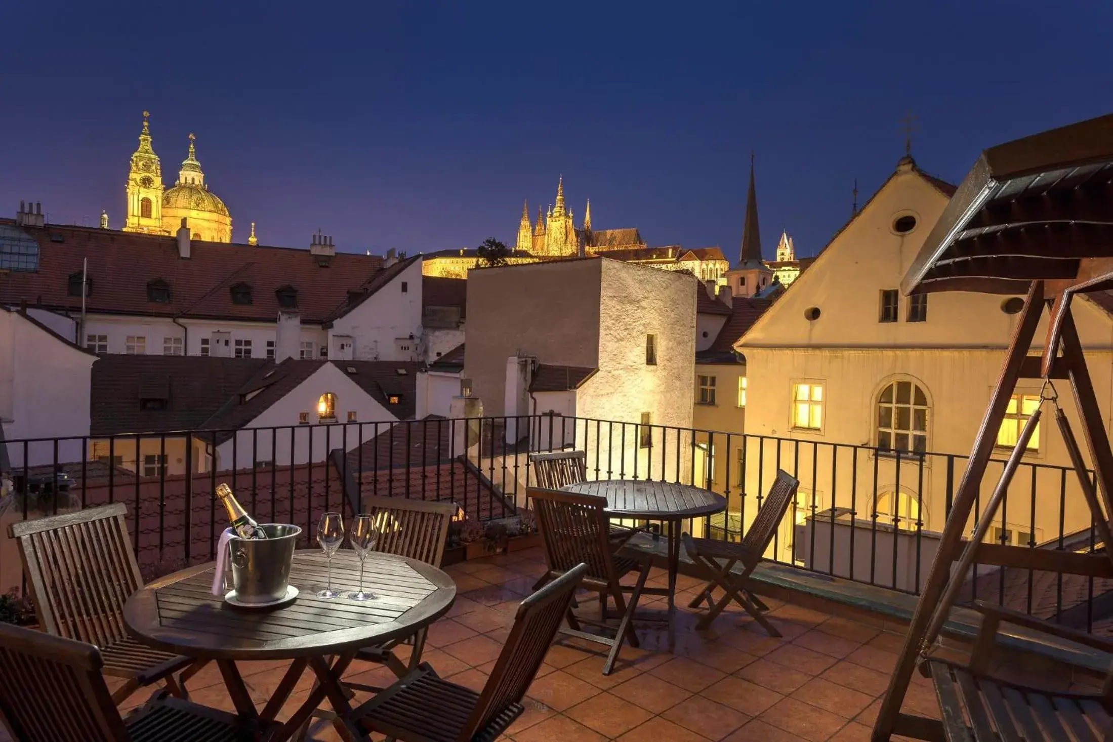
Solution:
[[(380, 257), (337, 253), (324, 268), (304, 249), (198, 240), (190, 243), (191, 257), (181, 259), (177, 240), (168, 236), (59, 225), (21, 229), (39, 244), (39, 269), (0, 279), (0, 303), (79, 310), (81, 298), (69, 296), (69, 276), (88, 258), (90, 311), (274, 321), (275, 290), (289, 285), (297, 290), (302, 321), (321, 323), (347, 305), (348, 291), (372, 286), (383, 266)], [(147, 284), (155, 279), (169, 284), (169, 303), (147, 300)], [(252, 287), (252, 304), (233, 304), (229, 288), (239, 283)]]

